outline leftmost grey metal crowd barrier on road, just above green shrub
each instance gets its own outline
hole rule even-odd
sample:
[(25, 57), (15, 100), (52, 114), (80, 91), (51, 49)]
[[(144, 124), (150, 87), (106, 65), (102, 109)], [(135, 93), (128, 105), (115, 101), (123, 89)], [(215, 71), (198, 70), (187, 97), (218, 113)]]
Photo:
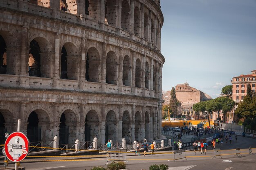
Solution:
[(127, 161), (127, 149), (110, 149), (107, 153), (107, 163), (110, 161)]

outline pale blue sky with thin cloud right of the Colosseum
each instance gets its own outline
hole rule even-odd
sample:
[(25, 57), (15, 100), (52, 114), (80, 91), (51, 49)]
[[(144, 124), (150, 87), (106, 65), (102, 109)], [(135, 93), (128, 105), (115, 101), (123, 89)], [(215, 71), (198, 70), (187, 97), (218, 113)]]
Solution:
[(216, 98), (256, 70), (256, 0), (161, 0), (164, 91), (189, 83)]

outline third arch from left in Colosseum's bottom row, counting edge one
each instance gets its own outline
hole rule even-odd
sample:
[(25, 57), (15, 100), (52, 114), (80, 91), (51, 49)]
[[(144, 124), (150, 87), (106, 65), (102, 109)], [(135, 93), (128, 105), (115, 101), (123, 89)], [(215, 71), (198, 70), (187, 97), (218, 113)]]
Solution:
[(59, 116), (59, 137), (60, 137), (60, 145), (61, 144), (71, 144), (76, 140), (76, 124), (78, 122), (78, 118), (76, 113), (70, 109), (65, 108), (60, 112)]

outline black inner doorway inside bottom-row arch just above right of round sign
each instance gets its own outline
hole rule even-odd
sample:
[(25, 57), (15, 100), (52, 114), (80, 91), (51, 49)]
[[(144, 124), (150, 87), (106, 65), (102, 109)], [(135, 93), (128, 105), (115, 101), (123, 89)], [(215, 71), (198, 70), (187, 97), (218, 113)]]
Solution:
[(41, 128), (38, 127), (38, 116), (35, 111), (32, 111), (27, 119), (27, 138), (29, 142), (41, 141)]

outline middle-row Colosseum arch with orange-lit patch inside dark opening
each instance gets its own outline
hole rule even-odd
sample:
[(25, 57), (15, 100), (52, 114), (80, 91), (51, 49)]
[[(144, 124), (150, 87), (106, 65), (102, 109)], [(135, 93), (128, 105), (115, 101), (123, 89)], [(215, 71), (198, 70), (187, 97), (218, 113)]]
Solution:
[(43, 37), (35, 37), (29, 43), (27, 70), (29, 76), (51, 77), (51, 47)]

